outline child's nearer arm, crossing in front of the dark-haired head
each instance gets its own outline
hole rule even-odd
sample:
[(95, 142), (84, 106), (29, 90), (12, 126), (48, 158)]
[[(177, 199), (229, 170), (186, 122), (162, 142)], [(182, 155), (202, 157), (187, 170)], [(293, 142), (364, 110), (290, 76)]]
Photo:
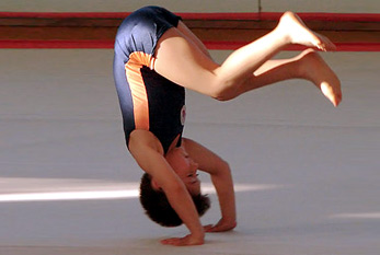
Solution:
[(197, 245), (204, 243), (204, 229), (194, 202), (183, 184), (163, 158), (162, 147), (149, 131), (135, 130), (130, 135), (129, 150), (140, 167), (152, 176), (163, 189), (168, 200), (191, 234), (181, 239), (163, 240), (163, 244)]

